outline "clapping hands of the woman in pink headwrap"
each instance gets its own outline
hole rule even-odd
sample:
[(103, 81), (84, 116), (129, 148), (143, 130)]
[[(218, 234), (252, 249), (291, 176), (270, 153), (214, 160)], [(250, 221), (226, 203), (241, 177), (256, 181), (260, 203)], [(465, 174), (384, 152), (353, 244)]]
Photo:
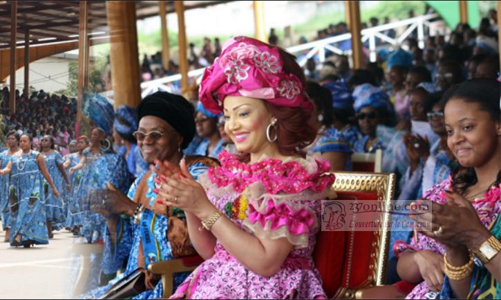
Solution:
[(162, 183), (158, 189), (159, 201), (195, 214), (200, 219), (205, 219), (205, 213), (214, 210), (204, 188), (189, 173), (185, 159), (182, 159), (180, 168), (167, 161), (158, 168), (162, 172)]

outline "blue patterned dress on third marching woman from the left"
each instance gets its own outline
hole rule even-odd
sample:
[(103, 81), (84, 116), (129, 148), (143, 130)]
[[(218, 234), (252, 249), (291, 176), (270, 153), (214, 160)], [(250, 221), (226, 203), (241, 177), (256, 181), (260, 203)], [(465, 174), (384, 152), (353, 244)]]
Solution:
[(48, 182), (44, 179), (44, 193), (46, 197), (45, 212), (47, 221), (52, 223), (54, 230), (59, 230), (64, 226), (66, 221), (66, 198), (68, 197), (68, 191), (66, 190), (66, 181), (59, 171), (58, 166), (64, 163), (64, 158), (59, 152), (54, 151), (50, 153), (41, 153), (41, 156), (45, 159), (45, 164), (47, 171), (50, 174), (50, 178), (53, 179), (53, 183), (59, 192), (59, 198), (54, 196), (52, 188), (50, 188)]

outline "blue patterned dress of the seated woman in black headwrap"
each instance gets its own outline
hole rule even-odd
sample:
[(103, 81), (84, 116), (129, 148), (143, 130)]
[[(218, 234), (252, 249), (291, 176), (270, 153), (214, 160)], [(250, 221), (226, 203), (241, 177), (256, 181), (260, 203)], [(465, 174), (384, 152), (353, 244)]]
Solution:
[[(191, 173), (191, 175), (193, 175), (195, 179), (197, 179), (198, 176), (200, 174), (203, 174), (205, 171), (207, 171), (207, 166), (203, 163), (193, 163), (193, 165), (189, 167), (189, 172)], [(144, 177), (144, 174), (141, 177), (138, 177), (138, 179), (136, 179), (133, 185), (131, 186), (129, 194), (127, 195), (129, 199), (134, 198), (135, 192), (138, 188), (138, 185), (142, 177)], [(150, 177), (147, 179), (147, 184), (149, 189), (148, 192), (146, 192), (146, 198), (150, 199), (151, 206), (153, 205), (157, 197), (157, 195), (153, 193), (153, 189), (155, 188), (154, 178), (155, 174), (151, 174)], [(171, 245), (169, 243), (169, 240), (167, 239), (167, 224), (168, 224), (168, 218), (166, 216), (156, 215), (153, 227), (153, 237), (155, 237), (155, 239), (158, 241), (158, 247), (160, 248), (160, 255), (162, 261), (173, 259), (171, 252)], [(124, 274), (129, 274), (130, 272), (135, 270), (135, 268), (138, 268), (138, 250), (141, 241), (140, 226), (136, 225), (131, 221), (129, 223), (129, 228), (131, 230), (131, 237), (132, 237), (132, 239), (130, 240), (131, 243), (126, 243), (124, 241), (119, 245), (120, 247), (124, 247), (124, 250), (129, 251), (129, 261), (127, 262), (127, 267)], [(123, 250), (119, 250), (119, 252), (123, 252)], [(108, 283), (107, 286), (88, 292), (88, 294), (84, 295), (84, 298), (97, 299), (101, 297), (111, 288), (113, 283), (124, 277), (124, 274), (119, 275), (116, 279)], [(188, 275), (189, 272), (175, 274), (174, 289), (176, 289), (179, 286), (179, 284), (186, 279)], [(154, 290), (146, 290), (145, 292), (142, 292), (141, 294), (138, 294), (137, 296), (133, 297), (133, 299), (159, 299), (162, 297), (162, 294), (163, 294), (163, 285), (162, 282), (160, 281), (157, 283)]]

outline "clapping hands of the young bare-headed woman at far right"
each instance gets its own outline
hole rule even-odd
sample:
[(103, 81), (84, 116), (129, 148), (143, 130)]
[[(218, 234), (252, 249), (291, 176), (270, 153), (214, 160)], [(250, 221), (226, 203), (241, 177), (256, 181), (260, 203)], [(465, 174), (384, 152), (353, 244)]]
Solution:
[(446, 190), (446, 199), (446, 204), (433, 202), (431, 212), (411, 216), (415, 221), (431, 223), (433, 231), (419, 226), (417, 229), (448, 248), (478, 248), (489, 238), (489, 230), (480, 221), (477, 211), (455, 191)]

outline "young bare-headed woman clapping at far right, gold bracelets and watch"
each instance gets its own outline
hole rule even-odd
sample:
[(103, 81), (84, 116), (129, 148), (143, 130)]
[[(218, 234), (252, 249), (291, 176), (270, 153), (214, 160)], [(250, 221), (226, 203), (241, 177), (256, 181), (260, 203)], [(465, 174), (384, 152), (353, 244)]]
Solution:
[[(439, 292), (441, 299), (500, 296), (499, 97), (494, 79), (466, 81), (444, 96), (447, 144), (460, 166), (424, 193), (423, 199), (433, 201), (431, 210), (411, 217), (431, 226), (417, 226), (410, 243), (395, 246), (401, 279), (417, 284), (408, 299), (436, 298)], [(480, 247), (488, 239), (490, 259)], [(482, 263), (476, 265), (475, 256)]]

